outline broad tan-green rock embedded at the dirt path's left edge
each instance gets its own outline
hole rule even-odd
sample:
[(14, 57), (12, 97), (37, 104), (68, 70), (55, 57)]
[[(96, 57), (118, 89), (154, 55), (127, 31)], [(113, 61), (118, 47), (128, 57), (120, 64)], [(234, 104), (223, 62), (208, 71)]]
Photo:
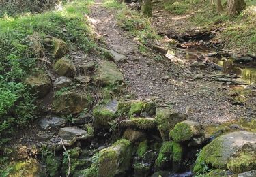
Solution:
[(99, 86), (113, 86), (124, 82), (124, 76), (113, 61), (103, 61), (96, 71), (94, 82)]

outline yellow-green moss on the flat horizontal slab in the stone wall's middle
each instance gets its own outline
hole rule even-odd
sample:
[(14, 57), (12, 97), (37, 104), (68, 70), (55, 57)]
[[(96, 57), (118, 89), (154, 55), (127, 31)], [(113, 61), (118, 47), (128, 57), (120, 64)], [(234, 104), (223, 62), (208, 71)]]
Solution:
[(156, 127), (154, 118), (130, 118), (129, 124), (139, 129), (154, 129)]

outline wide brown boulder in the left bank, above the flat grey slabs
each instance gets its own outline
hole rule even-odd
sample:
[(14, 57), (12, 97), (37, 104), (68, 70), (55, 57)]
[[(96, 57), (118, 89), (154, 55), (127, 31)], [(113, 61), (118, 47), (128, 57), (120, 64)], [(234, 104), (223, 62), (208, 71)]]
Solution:
[(52, 111), (56, 114), (79, 114), (91, 107), (91, 95), (67, 91), (53, 97)]

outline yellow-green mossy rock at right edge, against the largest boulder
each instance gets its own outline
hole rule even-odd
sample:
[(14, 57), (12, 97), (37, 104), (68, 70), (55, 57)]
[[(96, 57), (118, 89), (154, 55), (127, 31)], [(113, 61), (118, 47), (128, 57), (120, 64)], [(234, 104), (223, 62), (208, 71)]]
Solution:
[(244, 144), (236, 155), (233, 155), (227, 163), (227, 168), (232, 172), (243, 173), (256, 169), (256, 143)]

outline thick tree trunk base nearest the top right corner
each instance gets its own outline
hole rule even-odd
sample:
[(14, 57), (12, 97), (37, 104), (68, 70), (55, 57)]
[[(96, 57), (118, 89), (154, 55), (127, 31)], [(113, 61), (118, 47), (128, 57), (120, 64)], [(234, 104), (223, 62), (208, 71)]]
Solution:
[(227, 14), (229, 16), (236, 16), (244, 10), (246, 3), (244, 0), (228, 0), (227, 1)]

